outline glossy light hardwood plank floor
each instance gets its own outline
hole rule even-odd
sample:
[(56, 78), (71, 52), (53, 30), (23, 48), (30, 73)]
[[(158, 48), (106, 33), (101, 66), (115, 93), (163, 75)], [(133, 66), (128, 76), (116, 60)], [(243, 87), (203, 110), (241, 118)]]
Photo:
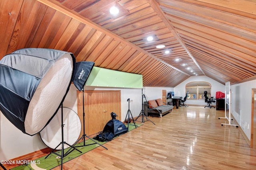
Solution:
[(147, 121), (104, 144), (108, 150), (98, 147), (64, 163), (63, 169), (255, 170), (256, 153), (240, 130), (221, 126), (228, 121), (218, 117), (224, 117), (224, 111), (202, 106), (179, 107), (162, 118), (148, 117), (156, 125)]

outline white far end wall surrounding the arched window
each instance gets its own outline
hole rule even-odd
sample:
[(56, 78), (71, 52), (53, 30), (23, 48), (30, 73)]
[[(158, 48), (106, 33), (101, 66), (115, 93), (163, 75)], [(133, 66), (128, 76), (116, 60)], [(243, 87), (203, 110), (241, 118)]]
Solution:
[[(221, 84), (212, 78), (208, 76), (191, 76), (190, 78), (184, 80), (182, 83), (178, 84), (177, 86), (174, 87), (174, 95), (175, 96), (182, 96), (183, 98), (186, 95), (186, 84), (189, 82), (196, 82), (196, 81), (202, 81), (202, 82), (208, 82), (211, 84), (211, 96), (215, 97), (216, 92), (220, 91), (222, 93), (225, 93), (225, 85)], [(204, 100), (186, 100), (187, 105), (192, 104), (192, 105), (207, 105)], [(212, 103), (212, 106), (216, 106), (216, 103)]]

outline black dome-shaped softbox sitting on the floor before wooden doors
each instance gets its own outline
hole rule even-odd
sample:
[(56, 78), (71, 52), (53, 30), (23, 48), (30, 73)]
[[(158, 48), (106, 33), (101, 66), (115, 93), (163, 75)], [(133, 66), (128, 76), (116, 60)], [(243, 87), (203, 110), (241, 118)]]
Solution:
[(128, 129), (124, 125), (124, 123), (119, 120), (113, 119), (108, 121), (103, 129), (103, 133), (108, 131), (112, 132), (114, 134), (114, 137), (116, 137), (118, 135), (128, 132)]

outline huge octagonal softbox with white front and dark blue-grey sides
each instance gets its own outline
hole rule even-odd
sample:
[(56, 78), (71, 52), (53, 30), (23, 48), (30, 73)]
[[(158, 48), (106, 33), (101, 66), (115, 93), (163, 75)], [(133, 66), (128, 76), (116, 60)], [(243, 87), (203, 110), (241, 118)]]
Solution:
[(72, 82), (72, 53), (28, 48), (0, 60), (0, 110), (23, 133), (35, 135), (54, 117)]

